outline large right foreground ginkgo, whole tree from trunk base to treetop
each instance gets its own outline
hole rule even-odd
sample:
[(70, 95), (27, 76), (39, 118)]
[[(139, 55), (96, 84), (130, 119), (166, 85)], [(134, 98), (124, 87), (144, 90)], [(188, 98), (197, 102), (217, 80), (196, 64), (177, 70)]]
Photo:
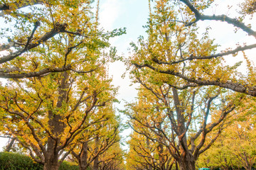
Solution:
[[(171, 6), (174, 1), (154, 2), (154, 12), (146, 26), (148, 38), (139, 38), (139, 45), (132, 43), (134, 52), (127, 62), (131, 77), (142, 85), (143, 91), (139, 103), (128, 106), (127, 114), (143, 127), (135, 132), (161, 142), (146, 132), (149, 129), (166, 139), (161, 143), (169, 148), (179, 169), (196, 169), (198, 156), (215, 142), (244, 95), (219, 86), (201, 86), (184, 77), (236, 79), (242, 75), (237, 71), (239, 64), (225, 66), (222, 57), (200, 62), (185, 60), (191, 55), (212, 55), (217, 45), (207, 30), (199, 37), (196, 27), (177, 21), (176, 8)], [(178, 62), (183, 59), (184, 62)], [(144, 109), (149, 103), (149, 109)], [(148, 115), (151, 116), (146, 118)], [(156, 120), (168, 128), (157, 127)], [(215, 135), (209, 135), (210, 132)]]

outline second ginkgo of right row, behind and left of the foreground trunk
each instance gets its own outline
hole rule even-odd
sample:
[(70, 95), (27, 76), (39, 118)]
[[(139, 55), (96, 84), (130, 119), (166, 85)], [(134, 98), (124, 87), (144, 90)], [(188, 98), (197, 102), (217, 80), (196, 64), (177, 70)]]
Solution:
[[(163, 145), (163, 142), (167, 142), (166, 138), (161, 136), (163, 130), (171, 132), (165, 121), (166, 114), (161, 111), (162, 106), (158, 99), (149, 91), (140, 89), (139, 96), (139, 103), (136, 107), (138, 110), (135, 111), (135, 107), (132, 107), (136, 116), (128, 114), (132, 120), (132, 123), (128, 124), (134, 132), (128, 142), (127, 166), (129, 169), (136, 169), (136, 167), (139, 169), (171, 169), (174, 165), (174, 158), (169, 153), (168, 147)], [(156, 127), (156, 131), (151, 131), (149, 128), (151, 125)]]

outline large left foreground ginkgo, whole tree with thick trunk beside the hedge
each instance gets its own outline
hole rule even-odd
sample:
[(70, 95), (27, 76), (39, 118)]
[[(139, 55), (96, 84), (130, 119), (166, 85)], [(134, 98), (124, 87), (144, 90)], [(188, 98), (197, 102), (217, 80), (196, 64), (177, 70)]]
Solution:
[[(112, 105), (117, 92), (104, 66), (110, 57), (101, 50), (109, 45), (108, 38), (122, 31), (102, 36), (97, 33), (89, 2), (53, 2), (56, 6), (49, 4), (48, 7), (53, 18), (47, 18), (47, 15), (42, 18), (54, 22), (57, 28), (65, 22), (76, 23), (80, 27), (64, 25), (74, 31), (81, 28), (82, 36), (58, 33), (43, 45), (23, 52), (23, 57), (18, 57), (18, 60), (2, 64), (3, 69), (27, 70), (24, 74), (23, 71), (7, 73), (12, 78), (28, 79), (9, 79), (1, 85), (1, 133), (16, 137), (36, 162), (44, 164), (44, 169), (58, 169), (76, 146), (80, 133), (90, 125), (107, 120), (106, 114), (101, 114), (86, 123), (87, 118), (100, 113), (100, 107)], [(35, 8), (48, 12), (43, 6)], [(35, 33), (33, 40), (36, 36)], [(61, 73), (56, 73), (56, 68), (61, 68)]]

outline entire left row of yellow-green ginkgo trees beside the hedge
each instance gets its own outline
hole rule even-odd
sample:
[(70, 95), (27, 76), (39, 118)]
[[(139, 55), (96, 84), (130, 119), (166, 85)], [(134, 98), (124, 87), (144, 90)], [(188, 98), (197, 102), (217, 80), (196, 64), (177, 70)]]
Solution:
[[(117, 89), (106, 64), (108, 40), (93, 1), (1, 1), (1, 134), (45, 170), (64, 159), (81, 170), (122, 169)], [(10, 26), (10, 27), (8, 27)], [(26, 78), (26, 79), (22, 79)], [(9, 149), (9, 148), (6, 148)]]

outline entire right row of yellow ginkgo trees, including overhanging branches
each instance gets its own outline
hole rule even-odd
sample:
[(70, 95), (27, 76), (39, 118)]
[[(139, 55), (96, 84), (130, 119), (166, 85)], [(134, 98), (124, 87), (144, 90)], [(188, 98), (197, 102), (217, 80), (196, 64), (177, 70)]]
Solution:
[[(255, 107), (248, 104), (255, 101), (255, 67), (244, 51), (256, 46), (220, 51), (208, 29), (201, 35), (197, 32), (198, 21), (223, 21), (256, 37), (251, 26), (242, 23), (255, 13), (255, 1), (240, 4), (238, 18), (203, 14), (211, 4), (153, 1), (154, 11), (145, 26), (148, 37), (132, 43), (134, 51), (127, 61), (132, 79), (140, 84), (138, 101), (127, 104), (124, 111), (133, 129), (128, 169), (194, 170), (197, 162), (199, 167), (227, 168), (230, 164), (222, 166), (227, 159), (232, 159), (233, 167), (250, 169), (255, 164), (251, 138)], [(238, 52), (246, 72), (238, 71), (241, 62), (225, 64), (226, 56)], [(234, 115), (242, 113), (254, 120), (234, 125)], [(230, 154), (218, 162), (218, 151)]]

